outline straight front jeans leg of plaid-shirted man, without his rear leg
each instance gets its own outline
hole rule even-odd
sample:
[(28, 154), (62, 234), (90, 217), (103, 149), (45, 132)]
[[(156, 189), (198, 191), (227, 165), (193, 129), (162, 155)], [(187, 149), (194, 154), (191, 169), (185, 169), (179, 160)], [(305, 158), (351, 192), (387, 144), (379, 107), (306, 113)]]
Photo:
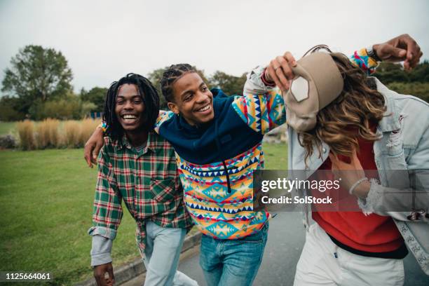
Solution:
[(153, 222), (147, 223), (148, 229), (151, 230), (152, 237), (154, 237), (154, 247), (150, 257), (148, 256), (149, 264), (147, 264), (144, 285), (172, 285), (186, 230), (163, 228)]

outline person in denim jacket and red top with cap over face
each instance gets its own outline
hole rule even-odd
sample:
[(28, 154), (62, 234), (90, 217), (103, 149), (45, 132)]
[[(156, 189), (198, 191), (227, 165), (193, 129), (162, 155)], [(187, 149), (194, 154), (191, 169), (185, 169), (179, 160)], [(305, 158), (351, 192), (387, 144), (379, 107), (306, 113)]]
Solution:
[[(340, 53), (311, 53), (297, 62), (286, 53), (262, 73), (264, 83), (280, 83), (279, 74), (292, 79), (282, 89), (289, 170), (325, 180), (341, 174), (338, 193), (357, 197), (354, 211), (313, 205), (315, 224), (308, 227), (294, 285), (403, 285), (405, 243), (429, 274), (429, 217), (423, 213), (429, 202), (420, 215), (411, 206), (386, 206), (385, 198), (398, 190), (384, 171), (429, 169), (429, 104), (388, 90)], [(258, 81), (246, 84), (250, 93), (268, 90)], [(423, 190), (429, 176), (419, 179), (416, 189)], [(400, 181), (411, 186), (413, 179)], [(386, 212), (389, 207), (408, 211)]]

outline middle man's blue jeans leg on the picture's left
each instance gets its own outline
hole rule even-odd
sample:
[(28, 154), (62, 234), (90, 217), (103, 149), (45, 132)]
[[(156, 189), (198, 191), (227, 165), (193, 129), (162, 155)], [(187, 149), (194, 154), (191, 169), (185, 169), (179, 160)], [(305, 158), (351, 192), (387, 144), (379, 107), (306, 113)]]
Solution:
[(205, 236), (201, 238), (200, 266), (203, 269), (205, 281), (208, 286), (217, 286), (222, 275), (222, 261), (218, 250), (223, 246), (222, 240)]

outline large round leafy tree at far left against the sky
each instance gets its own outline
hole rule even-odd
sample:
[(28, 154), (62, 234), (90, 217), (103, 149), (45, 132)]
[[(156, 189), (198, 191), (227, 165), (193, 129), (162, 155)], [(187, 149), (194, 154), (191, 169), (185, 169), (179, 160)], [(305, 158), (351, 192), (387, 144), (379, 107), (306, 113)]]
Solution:
[(72, 89), (71, 79), (71, 69), (61, 52), (29, 45), (12, 57), (1, 90), (18, 97), (18, 111), (27, 114), (34, 102), (41, 104), (65, 97)]

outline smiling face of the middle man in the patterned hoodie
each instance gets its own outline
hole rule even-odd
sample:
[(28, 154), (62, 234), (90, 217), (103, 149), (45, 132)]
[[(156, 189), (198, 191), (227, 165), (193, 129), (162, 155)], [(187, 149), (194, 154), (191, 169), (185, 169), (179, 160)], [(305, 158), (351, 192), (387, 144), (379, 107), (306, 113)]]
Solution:
[(190, 125), (200, 125), (212, 121), (213, 94), (196, 72), (184, 74), (172, 86), (174, 101), (168, 107), (184, 117)]

